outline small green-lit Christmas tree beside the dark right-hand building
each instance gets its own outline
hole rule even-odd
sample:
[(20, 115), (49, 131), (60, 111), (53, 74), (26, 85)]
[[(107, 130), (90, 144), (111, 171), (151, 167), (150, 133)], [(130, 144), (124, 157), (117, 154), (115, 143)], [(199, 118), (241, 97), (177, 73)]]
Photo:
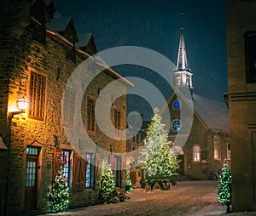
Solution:
[(222, 168), (222, 172), (219, 175), (219, 181), (220, 182), (218, 185), (218, 202), (227, 206), (226, 213), (231, 213), (230, 205), (232, 199), (232, 177), (230, 170), (228, 169), (228, 162), (226, 159), (224, 159), (224, 167)]

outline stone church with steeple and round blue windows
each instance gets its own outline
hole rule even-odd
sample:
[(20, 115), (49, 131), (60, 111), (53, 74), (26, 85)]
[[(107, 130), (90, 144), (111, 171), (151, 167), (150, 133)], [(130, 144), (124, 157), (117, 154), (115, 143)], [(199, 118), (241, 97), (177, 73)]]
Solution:
[(224, 103), (194, 94), (192, 75), (182, 26), (177, 66), (172, 71), (173, 93), (162, 111), (168, 108), (171, 115), (169, 138), (181, 160), (181, 176), (216, 179), (224, 159), (230, 161), (228, 108)]

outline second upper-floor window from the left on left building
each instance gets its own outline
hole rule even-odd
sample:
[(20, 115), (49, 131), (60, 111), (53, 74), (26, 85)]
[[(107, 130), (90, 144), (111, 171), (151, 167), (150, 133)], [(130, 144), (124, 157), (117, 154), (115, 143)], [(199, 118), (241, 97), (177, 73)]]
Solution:
[(74, 123), (75, 91), (66, 88), (62, 105), (62, 121), (65, 126), (73, 127)]

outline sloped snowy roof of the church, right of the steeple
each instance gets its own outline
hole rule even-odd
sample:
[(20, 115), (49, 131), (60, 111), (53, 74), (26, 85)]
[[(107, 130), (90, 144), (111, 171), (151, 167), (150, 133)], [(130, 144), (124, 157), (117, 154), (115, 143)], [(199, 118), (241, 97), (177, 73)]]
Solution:
[(193, 108), (208, 128), (229, 132), (229, 110), (224, 103), (193, 94)]

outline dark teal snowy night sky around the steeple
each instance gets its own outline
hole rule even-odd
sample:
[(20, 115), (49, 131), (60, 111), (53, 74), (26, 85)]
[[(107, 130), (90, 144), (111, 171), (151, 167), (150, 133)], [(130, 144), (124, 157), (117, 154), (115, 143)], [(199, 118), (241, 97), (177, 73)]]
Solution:
[[(79, 33), (93, 33), (97, 51), (141, 46), (176, 65), (181, 14), (195, 94), (224, 102), (227, 88), (225, 5), (223, 0), (54, 0), (62, 16), (73, 17)], [(114, 68), (122, 76), (148, 79), (167, 98), (171, 89), (153, 71), (136, 65)], [(171, 71), (170, 71), (171, 72)]]

